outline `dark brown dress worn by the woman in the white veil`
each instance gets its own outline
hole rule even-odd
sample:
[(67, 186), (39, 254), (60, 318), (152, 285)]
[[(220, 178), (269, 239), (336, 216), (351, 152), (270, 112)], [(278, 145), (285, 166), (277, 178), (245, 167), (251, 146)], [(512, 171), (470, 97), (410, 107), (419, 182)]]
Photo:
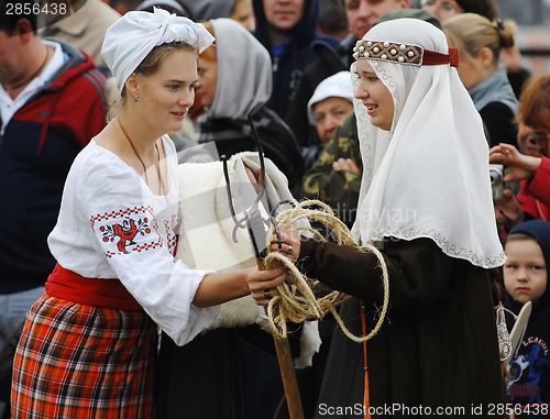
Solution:
[[(429, 417), (427, 409), (433, 417), (438, 408), (447, 418), (505, 417), (497, 415), (506, 398), (488, 271), (447, 256), (430, 239), (389, 240), (383, 254), (391, 294), (384, 326), (367, 343), (373, 418)], [(310, 277), (355, 297), (341, 307), (354, 334), (362, 334), (359, 298), (374, 327), (383, 300), (374, 254), (304, 241), (300, 261)], [(316, 417), (362, 418), (363, 390), (363, 346), (337, 328)]]

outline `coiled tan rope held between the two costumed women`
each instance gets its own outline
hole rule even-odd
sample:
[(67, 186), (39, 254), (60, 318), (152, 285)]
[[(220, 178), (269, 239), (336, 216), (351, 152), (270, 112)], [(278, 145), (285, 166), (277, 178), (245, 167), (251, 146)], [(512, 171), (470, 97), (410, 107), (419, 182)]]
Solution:
[[(378, 266), (382, 269), (382, 280), (384, 286), (384, 301), (382, 310), (380, 311), (378, 320), (374, 329), (364, 337), (356, 337), (345, 327), (342, 318), (338, 315), (337, 307), (340, 306), (349, 296), (344, 293), (332, 291), (321, 298), (316, 298), (311, 290), (318, 282), (308, 278), (302, 274), (296, 265), (285, 255), (279, 252), (271, 251), (271, 238), (274, 232), (277, 232), (278, 227), (297, 233), (306, 233), (312, 235), (316, 240), (327, 242), (327, 239), (316, 229), (311, 227), (295, 227), (295, 225), (309, 225), (304, 221), (315, 221), (324, 225), (330, 230), (338, 244), (353, 245), (362, 252), (372, 252), (378, 258)], [(302, 323), (307, 320), (317, 320), (323, 318), (329, 312), (334, 316), (338, 324), (343, 333), (354, 342), (362, 343), (371, 340), (384, 323), (386, 317), (388, 300), (389, 300), (389, 277), (387, 266), (382, 256), (382, 253), (373, 245), (366, 244), (359, 246), (353, 236), (351, 235), (348, 227), (334, 216), (332, 209), (324, 202), (319, 200), (305, 200), (280, 211), (275, 216), (275, 220), (267, 233), (266, 247), (268, 250), (267, 256), (263, 263), (266, 268), (274, 268), (276, 266), (285, 265), (288, 271), (288, 283), (282, 284), (277, 287), (278, 296), (273, 297), (267, 306), (267, 317), (273, 329), (273, 333), (278, 338), (287, 337), (287, 321), (295, 323)]]

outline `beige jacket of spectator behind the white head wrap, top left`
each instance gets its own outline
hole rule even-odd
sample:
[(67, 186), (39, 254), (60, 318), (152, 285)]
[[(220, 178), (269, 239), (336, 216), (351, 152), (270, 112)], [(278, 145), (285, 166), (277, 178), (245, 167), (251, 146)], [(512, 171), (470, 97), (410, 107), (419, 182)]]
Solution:
[(105, 33), (120, 13), (101, 0), (77, 0), (74, 8), (74, 14), (48, 23), (41, 35), (64, 40), (84, 49), (98, 66), (105, 66), (100, 55)]

